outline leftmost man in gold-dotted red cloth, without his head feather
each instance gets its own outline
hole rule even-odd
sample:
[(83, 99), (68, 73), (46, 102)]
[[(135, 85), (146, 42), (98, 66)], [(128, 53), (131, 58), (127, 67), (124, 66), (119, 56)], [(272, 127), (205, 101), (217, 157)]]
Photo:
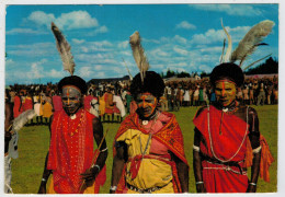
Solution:
[[(46, 193), (50, 173), (49, 194), (96, 194), (105, 182), (107, 148), (103, 139), (103, 126), (98, 117), (83, 107), (83, 94), (87, 92), (83, 79), (66, 77), (60, 80), (58, 89), (64, 109), (55, 112), (50, 118), (49, 152), (38, 194)], [(94, 163), (93, 139), (98, 146), (103, 139)]]

